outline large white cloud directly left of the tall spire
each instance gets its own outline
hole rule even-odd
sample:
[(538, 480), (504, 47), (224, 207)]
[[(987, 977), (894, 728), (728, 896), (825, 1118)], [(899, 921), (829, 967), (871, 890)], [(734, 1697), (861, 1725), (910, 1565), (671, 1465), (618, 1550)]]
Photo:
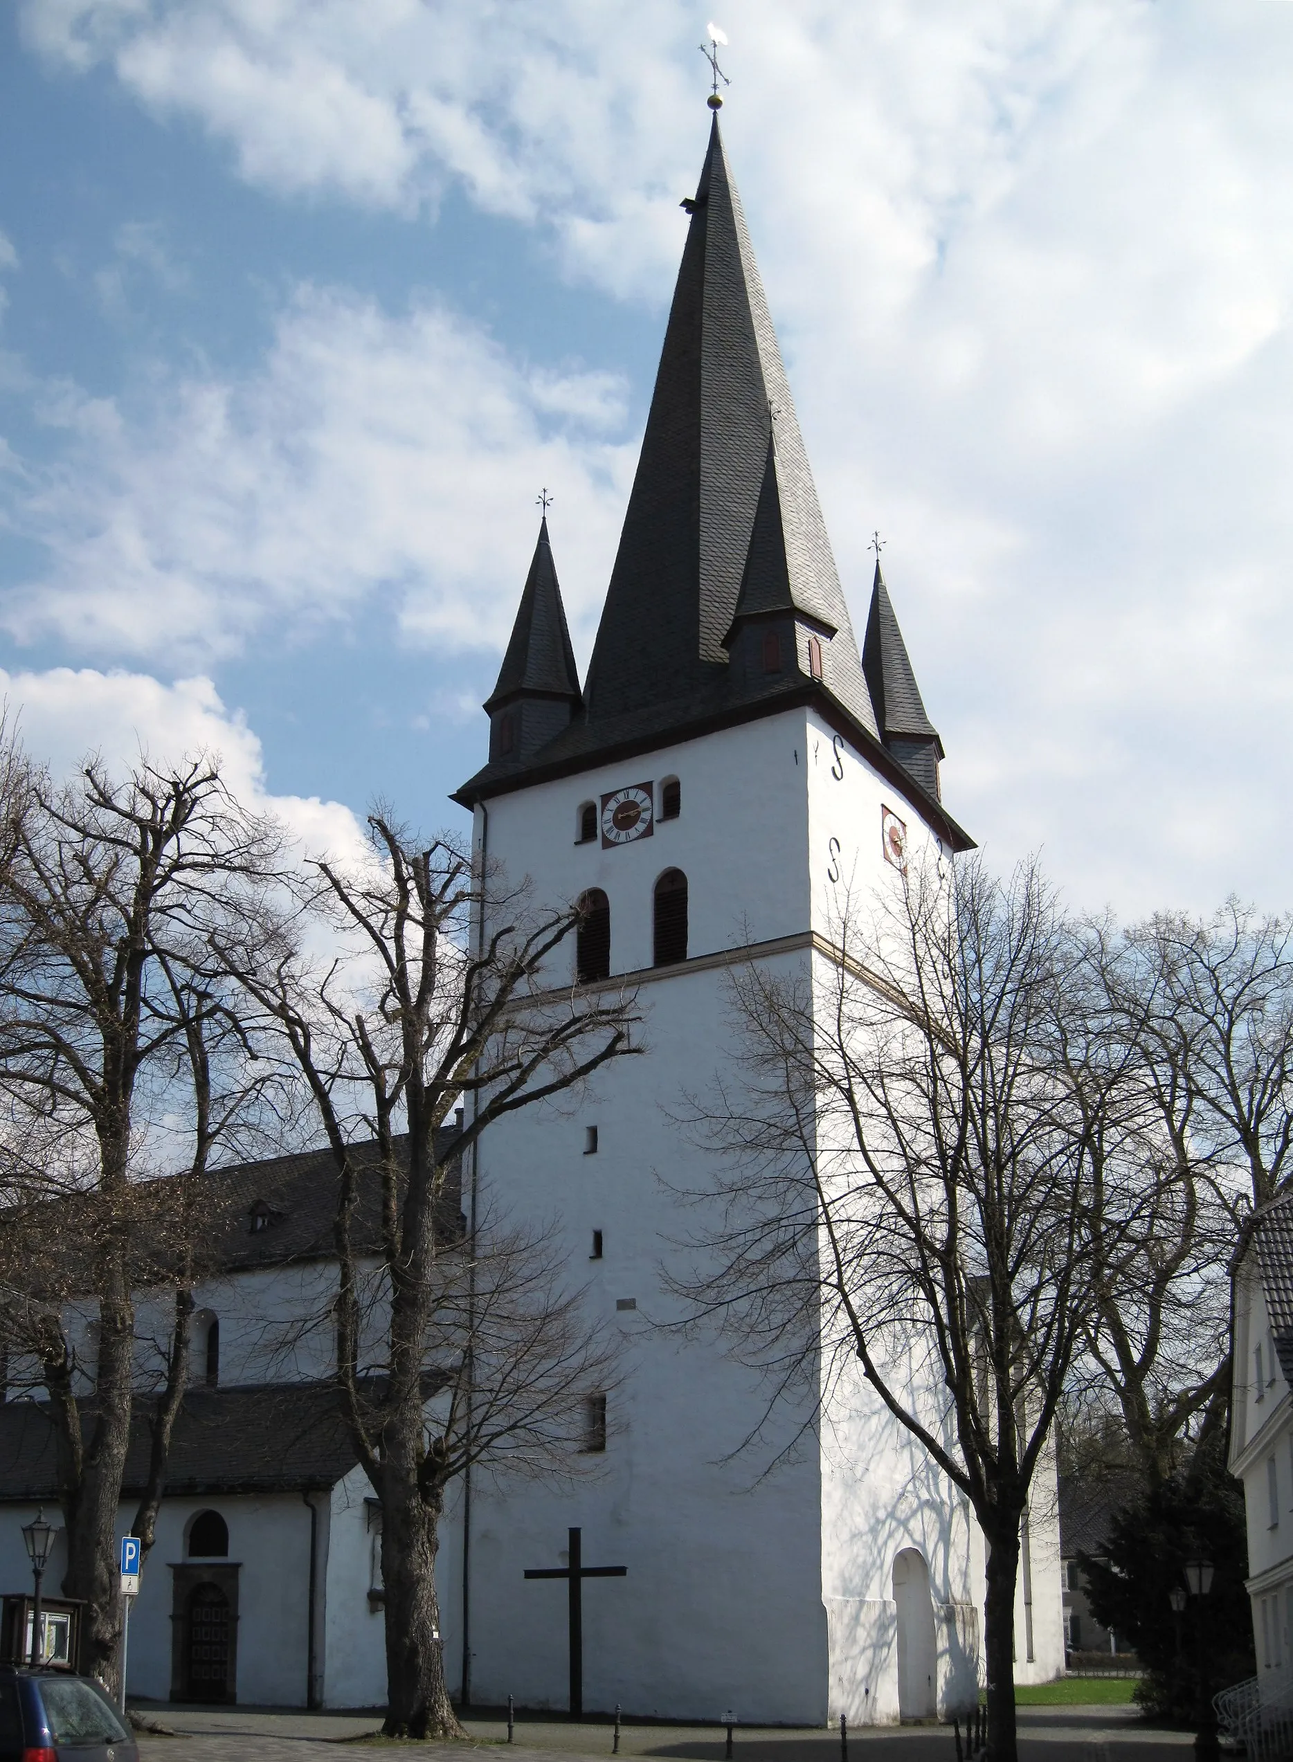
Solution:
[(46, 393), (67, 446), (11, 516), (51, 559), (4, 601), (21, 640), (201, 663), (384, 596), (410, 640), (497, 647), (544, 483), (573, 611), (594, 608), (632, 465), (604, 374), (528, 370), (440, 308), (303, 287), (259, 372), (159, 370), (144, 396)]

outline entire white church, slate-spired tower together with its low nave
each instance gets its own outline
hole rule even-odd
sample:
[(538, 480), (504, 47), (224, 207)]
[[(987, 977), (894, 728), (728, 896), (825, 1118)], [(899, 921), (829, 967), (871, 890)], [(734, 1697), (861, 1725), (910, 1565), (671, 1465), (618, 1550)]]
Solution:
[[(786, 1725), (946, 1716), (978, 1704), (983, 1674), (985, 1551), (969, 1503), (856, 1367), (814, 1366), (777, 1431), (763, 1378), (715, 1339), (655, 1325), (676, 1320), (661, 1262), (696, 1228), (687, 1195), (712, 1177), (678, 1112), (729, 1075), (733, 966), (828, 996), (814, 981), (837, 959), (849, 890), (861, 906), (900, 888), (909, 862), (946, 872), (971, 844), (942, 807), (942, 744), (879, 566), (854, 636), (717, 118), (683, 206), (588, 673), (581, 684), (544, 520), (486, 705), (488, 763), (456, 795), (483, 865), (530, 877), (537, 902), (581, 902), (546, 974), (553, 999), (576, 985), (636, 992), (646, 1055), (608, 1064), (562, 1108), (506, 1115), (472, 1158), (486, 1210), (555, 1230), (590, 1313), (624, 1339), (624, 1378), (587, 1396), (601, 1473), (479, 1473), (449, 1512), (446, 1669), (454, 1684), (470, 1676), (477, 1702), (565, 1707), (569, 1581), (525, 1573), (569, 1570), (578, 1549), (599, 1573), (583, 1584), (590, 1709), (696, 1720), (731, 1707)], [(335, 1277), (328, 1168), (305, 1158), (227, 1177), (241, 1223), (222, 1277), (197, 1293), (197, 1381), (217, 1327), (218, 1385), (194, 1401), (176, 1448), (132, 1623), (134, 1690), (194, 1693), (206, 1679), (185, 1674), (185, 1647), (227, 1623), (227, 1695), (299, 1704), (307, 1679), (328, 1706), (384, 1693), (365, 1487), (322, 1410), (329, 1334), (292, 1336)], [(905, 1399), (944, 1425), (925, 1353), (898, 1343), (895, 1359)], [(12, 1424), (28, 1438), (28, 1415)], [(53, 1485), (32, 1448), (11, 1441), (4, 1482), (14, 1589), (18, 1526)], [(194, 1556), (224, 1540), (218, 1524), (227, 1556)], [(1016, 1677), (1038, 1683), (1064, 1667), (1053, 1471), (1038, 1477), (1022, 1542)]]

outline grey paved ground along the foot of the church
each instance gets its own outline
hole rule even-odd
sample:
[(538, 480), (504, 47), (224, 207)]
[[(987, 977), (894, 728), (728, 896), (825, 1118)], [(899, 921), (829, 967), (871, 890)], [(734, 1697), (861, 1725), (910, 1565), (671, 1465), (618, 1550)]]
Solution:
[[(146, 1762), (345, 1762), (347, 1757), (421, 1755), (428, 1762), (588, 1762), (611, 1755), (610, 1721), (518, 1720), (506, 1744), (500, 1718), (469, 1716), (465, 1744), (354, 1744), (377, 1732), (381, 1713), (299, 1713), (257, 1707), (141, 1707), (176, 1737), (141, 1734)], [(1134, 1707), (1020, 1707), (1022, 1762), (1187, 1762), (1191, 1732), (1140, 1723)], [(499, 1748), (506, 1755), (499, 1753)], [(724, 1734), (705, 1725), (625, 1725), (620, 1755), (722, 1762)], [(851, 1762), (955, 1762), (948, 1727), (860, 1727)], [(736, 1727), (735, 1762), (842, 1762), (837, 1730)]]

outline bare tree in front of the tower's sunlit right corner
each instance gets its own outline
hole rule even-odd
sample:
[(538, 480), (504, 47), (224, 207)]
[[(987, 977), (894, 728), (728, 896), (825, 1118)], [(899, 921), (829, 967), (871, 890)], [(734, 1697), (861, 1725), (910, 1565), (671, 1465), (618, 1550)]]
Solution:
[(842, 911), (835, 944), (733, 980), (736, 1071), (692, 1117), (715, 1186), (675, 1288), (772, 1403), (809, 1390), (823, 1424), (865, 1380), (969, 1499), (988, 1743), (1013, 1762), (1020, 1531), (1092, 1304), (1073, 939), (1036, 867), (1001, 885), (974, 860)]

